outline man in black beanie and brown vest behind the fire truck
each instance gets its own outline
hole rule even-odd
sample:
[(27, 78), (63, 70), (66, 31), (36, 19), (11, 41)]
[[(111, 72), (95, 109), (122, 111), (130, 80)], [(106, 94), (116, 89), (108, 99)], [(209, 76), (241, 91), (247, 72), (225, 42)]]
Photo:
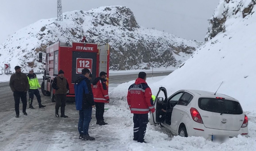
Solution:
[(53, 89), (55, 89), (55, 116), (59, 117), (59, 108), (60, 108), (60, 117), (68, 117), (65, 115), (65, 106), (66, 106), (66, 96), (67, 91), (69, 90), (69, 85), (67, 79), (64, 77), (64, 71), (59, 71), (59, 76), (53, 79), (52, 84)]

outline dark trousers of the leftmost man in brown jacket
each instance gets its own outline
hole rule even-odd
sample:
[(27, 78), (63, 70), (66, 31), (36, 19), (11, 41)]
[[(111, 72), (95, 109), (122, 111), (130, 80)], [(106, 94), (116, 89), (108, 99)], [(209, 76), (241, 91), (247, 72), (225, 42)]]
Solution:
[(20, 115), (20, 99), (22, 102), (22, 112), (26, 112), (27, 92), (14, 91), (13, 97), (14, 97), (14, 108), (15, 108), (16, 114)]

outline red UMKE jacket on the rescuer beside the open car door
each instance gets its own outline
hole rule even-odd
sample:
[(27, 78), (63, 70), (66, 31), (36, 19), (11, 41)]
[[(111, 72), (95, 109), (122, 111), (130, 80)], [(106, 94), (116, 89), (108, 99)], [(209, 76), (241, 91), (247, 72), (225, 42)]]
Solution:
[(155, 112), (152, 99), (152, 92), (145, 80), (137, 78), (135, 83), (128, 89), (127, 103), (131, 113), (146, 114)]

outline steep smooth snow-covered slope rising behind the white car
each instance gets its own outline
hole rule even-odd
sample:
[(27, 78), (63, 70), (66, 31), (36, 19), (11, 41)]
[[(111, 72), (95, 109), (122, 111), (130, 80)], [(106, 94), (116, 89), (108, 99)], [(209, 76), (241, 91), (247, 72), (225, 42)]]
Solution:
[[(197, 49), (160, 85), (173, 91), (198, 89), (215, 92), (223, 81), (218, 93), (238, 99), (246, 111), (255, 110), (255, 4), (255, 0), (221, 0), (213, 16), (226, 18), (223, 22), (225, 32), (218, 33)], [(244, 16), (248, 7), (251, 13)]]

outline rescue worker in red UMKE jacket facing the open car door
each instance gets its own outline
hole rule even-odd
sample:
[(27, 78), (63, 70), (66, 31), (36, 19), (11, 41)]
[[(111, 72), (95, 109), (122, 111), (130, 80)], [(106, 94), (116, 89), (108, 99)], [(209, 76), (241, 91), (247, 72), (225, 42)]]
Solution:
[(128, 89), (127, 102), (133, 113), (133, 140), (146, 143), (144, 136), (146, 134), (148, 113), (155, 112), (155, 107), (152, 99), (152, 92), (147, 82), (147, 74), (139, 72), (135, 83)]

